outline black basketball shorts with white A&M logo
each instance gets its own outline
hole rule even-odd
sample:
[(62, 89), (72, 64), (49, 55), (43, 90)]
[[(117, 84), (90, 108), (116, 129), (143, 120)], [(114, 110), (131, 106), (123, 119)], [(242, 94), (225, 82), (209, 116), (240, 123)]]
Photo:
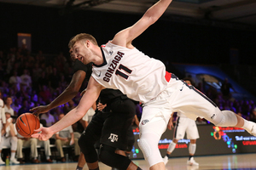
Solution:
[(127, 132), (135, 114), (135, 104), (131, 99), (116, 99), (111, 104), (111, 111), (96, 112), (86, 131), (92, 138), (100, 139), (100, 144), (126, 150)]

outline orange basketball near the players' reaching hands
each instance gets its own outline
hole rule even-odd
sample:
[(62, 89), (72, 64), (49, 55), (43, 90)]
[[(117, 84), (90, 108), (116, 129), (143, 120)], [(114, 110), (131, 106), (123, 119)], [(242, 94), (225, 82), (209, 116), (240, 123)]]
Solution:
[(40, 127), (40, 122), (32, 113), (23, 113), (17, 118), (15, 127), (21, 136), (29, 138)]

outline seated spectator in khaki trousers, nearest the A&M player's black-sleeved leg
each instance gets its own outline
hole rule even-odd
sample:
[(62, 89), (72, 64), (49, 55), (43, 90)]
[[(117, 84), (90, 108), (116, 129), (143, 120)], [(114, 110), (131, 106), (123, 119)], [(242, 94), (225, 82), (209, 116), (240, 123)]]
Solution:
[[(59, 116), (59, 120), (61, 120), (61, 118), (63, 116), (65, 116), (65, 115), (62, 113)], [(64, 129), (62, 129), (60, 132), (55, 133), (55, 138), (56, 138), (55, 145), (61, 155), (62, 162), (66, 161), (66, 158), (64, 157), (64, 153), (63, 153), (63, 149), (62, 149), (63, 145), (73, 145), (74, 144), (75, 156), (78, 157), (80, 155), (79, 139), (74, 138), (72, 126), (66, 127)]]

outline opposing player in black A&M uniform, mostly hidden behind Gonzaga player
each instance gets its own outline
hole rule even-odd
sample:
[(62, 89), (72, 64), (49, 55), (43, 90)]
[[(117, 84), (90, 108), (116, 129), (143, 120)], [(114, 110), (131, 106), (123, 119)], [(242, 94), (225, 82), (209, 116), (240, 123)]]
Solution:
[[(34, 114), (47, 112), (56, 106), (67, 103), (79, 93), (82, 83), (88, 81), (91, 74), (91, 64), (84, 65), (75, 61), (72, 81), (69, 86), (49, 105), (40, 105), (32, 108)], [(104, 112), (96, 111), (89, 126), (79, 139), (79, 146), (84, 154), (79, 156), (77, 169), (82, 169), (87, 161), (90, 169), (99, 169), (98, 156), (94, 144), (100, 139), (102, 144), (101, 161), (110, 167), (121, 169), (140, 169), (124, 152), (126, 149), (126, 133), (135, 115), (135, 104), (119, 90), (104, 89), (101, 95), (102, 104), (107, 104)], [(119, 149), (119, 150), (118, 150)], [(119, 154), (116, 154), (116, 153)], [(85, 158), (85, 160), (84, 160)]]

